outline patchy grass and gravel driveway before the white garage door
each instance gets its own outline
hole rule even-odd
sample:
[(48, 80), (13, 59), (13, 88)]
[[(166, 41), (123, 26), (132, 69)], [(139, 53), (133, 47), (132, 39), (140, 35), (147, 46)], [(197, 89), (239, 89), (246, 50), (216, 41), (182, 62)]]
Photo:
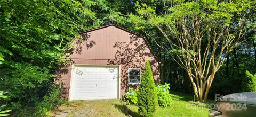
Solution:
[(119, 100), (70, 101), (54, 111), (53, 116), (125, 116), (117, 105)]

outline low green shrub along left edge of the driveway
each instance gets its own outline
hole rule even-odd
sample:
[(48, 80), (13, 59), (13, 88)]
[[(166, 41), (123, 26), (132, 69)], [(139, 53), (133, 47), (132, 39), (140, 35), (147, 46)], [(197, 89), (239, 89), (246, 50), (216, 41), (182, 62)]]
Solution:
[(61, 89), (57, 87), (53, 92), (45, 95), (44, 99), (36, 104), (34, 116), (47, 116), (47, 112), (62, 104), (60, 93)]

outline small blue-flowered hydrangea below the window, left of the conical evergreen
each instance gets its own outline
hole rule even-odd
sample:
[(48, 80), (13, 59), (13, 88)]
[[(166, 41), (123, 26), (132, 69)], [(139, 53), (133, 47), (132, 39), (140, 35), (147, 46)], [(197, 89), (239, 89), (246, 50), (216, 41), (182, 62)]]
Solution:
[(125, 104), (138, 104), (138, 91), (137, 90), (133, 90), (132, 87), (129, 87), (129, 91), (126, 92), (125, 94), (125, 99), (124, 99), (124, 103)]

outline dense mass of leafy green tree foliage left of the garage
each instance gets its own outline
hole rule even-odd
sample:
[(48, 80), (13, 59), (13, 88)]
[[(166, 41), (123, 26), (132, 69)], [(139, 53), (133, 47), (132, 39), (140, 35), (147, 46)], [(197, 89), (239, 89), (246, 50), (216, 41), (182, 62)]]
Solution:
[(35, 105), (53, 91), (56, 69), (69, 61), (65, 51), (72, 48), (70, 42), (79, 32), (103, 24), (97, 16), (107, 10), (106, 3), (0, 1), (0, 88), (9, 92), (9, 102)]

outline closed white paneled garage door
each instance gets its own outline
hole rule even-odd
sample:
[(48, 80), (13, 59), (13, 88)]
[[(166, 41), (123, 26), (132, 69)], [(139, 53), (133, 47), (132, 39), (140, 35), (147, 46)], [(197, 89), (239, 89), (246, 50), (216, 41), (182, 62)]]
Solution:
[(76, 66), (72, 70), (69, 100), (118, 98), (118, 67)]

